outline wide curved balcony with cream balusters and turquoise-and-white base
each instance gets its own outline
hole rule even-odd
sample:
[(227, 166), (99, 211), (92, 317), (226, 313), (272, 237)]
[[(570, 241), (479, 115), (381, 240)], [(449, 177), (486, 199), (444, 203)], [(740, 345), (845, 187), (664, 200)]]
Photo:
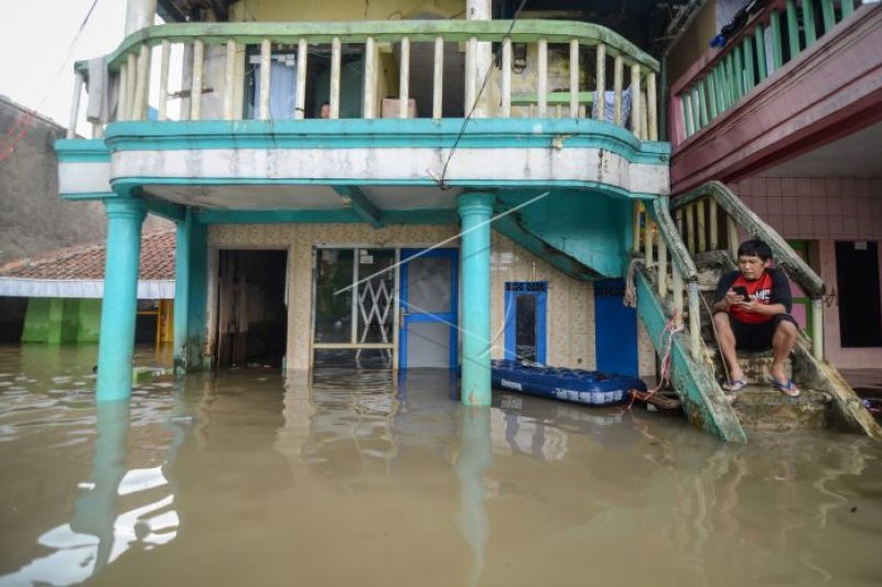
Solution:
[[(139, 188), (254, 209), (294, 205), (297, 191), (272, 189), (280, 184), (336, 195), (365, 185), (666, 194), (658, 70), (584, 22), (149, 26), (77, 65), (71, 140), (57, 144), (61, 192)], [(75, 139), (80, 106), (93, 140)], [(230, 185), (260, 186), (263, 199)], [(297, 205), (322, 208), (318, 193)]]

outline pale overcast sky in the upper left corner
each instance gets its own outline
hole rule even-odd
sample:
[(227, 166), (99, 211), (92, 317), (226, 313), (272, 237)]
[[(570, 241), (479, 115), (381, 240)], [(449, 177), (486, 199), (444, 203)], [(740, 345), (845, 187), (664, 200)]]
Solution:
[(0, 95), (66, 127), (74, 62), (111, 53), (126, 29), (126, 0), (98, 0), (78, 33), (94, 1), (0, 0)]

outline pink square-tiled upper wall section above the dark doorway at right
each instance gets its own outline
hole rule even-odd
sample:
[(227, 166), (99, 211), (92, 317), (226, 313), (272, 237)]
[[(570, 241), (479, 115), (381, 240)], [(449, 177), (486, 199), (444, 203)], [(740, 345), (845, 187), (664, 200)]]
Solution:
[(882, 180), (752, 177), (730, 187), (784, 238), (882, 239)]

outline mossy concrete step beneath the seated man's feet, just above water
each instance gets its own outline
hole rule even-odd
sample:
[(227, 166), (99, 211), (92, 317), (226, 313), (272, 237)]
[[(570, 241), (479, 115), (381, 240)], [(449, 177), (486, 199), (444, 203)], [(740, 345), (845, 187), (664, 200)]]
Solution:
[(831, 398), (824, 392), (802, 389), (788, 398), (771, 384), (752, 384), (727, 394), (741, 425), (751, 430), (787, 431), (827, 426)]

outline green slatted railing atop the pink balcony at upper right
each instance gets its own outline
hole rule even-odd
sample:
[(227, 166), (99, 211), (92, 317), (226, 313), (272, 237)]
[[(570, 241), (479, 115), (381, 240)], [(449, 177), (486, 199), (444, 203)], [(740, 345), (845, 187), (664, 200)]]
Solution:
[[(670, 89), (675, 148), (713, 124), (787, 63), (850, 19), (868, 0), (773, 0), (712, 48)], [(863, 8), (869, 10), (870, 7)]]

